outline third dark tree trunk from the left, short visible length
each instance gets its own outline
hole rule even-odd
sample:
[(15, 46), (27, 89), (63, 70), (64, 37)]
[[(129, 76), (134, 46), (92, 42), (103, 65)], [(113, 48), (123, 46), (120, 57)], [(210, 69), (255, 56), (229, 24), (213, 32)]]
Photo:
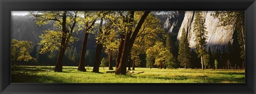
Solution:
[(97, 48), (96, 48), (96, 54), (95, 54), (95, 62), (93, 65), (93, 70), (92, 72), (99, 72), (99, 67), (100, 67), (100, 55), (101, 55), (101, 51), (103, 49), (103, 45), (101, 43), (97, 44)]

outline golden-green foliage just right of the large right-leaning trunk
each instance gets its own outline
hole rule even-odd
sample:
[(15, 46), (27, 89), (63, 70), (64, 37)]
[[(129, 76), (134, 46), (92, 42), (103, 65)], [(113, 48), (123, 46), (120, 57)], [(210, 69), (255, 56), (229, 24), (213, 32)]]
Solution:
[[(134, 22), (138, 23), (142, 15), (143, 15), (143, 12), (140, 12), (140, 11), (135, 12)], [(134, 29), (135, 29), (135, 26), (133, 26), (133, 30)], [(132, 50), (131, 50), (132, 58), (139, 57), (140, 54), (145, 54), (147, 49), (150, 48), (150, 46), (153, 46), (157, 41), (161, 40), (161, 39), (157, 39), (157, 35), (163, 34), (163, 33), (164, 33), (164, 30), (161, 29), (161, 21), (158, 20), (154, 14), (149, 14), (145, 22), (142, 24), (141, 29), (132, 46)], [(139, 58), (135, 58), (135, 59), (138, 60)], [(137, 62), (136, 60), (135, 60), (135, 64), (139, 64), (138, 62), (141, 61), (141, 60), (138, 60)], [(153, 65), (150, 65), (150, 63), (148, 63), (147, 65), (148, 67), (153, 66)]]

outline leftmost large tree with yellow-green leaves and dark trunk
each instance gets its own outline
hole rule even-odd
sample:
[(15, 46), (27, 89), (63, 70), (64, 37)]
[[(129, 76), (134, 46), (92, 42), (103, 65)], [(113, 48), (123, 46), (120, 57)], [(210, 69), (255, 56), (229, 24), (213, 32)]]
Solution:
[[(70, 37), (72, 36), (73, 32), (78, 30), (75, 26), (77, 23), (77, 11), (34, 11), (29, 12), (29, 15), (36, 21), (37, 25), (53, 23), (55, 27), (54, 31), (57, 31), (45, 31), (45, 34), (39, 36), (42, 39), (39, 45), (43, 45), (40, 53), (53, 53), (54, 50), (60, 49), (59, 53), (63, 54), (67, 48), (67, 45), (70, 43)], [(53, 40), (55, 42), (53, 42)], [(61, 57), (58, 57), (54, 71), (61, 72), (61, 59), (63, 58), (63, 55), (59, 56)]]

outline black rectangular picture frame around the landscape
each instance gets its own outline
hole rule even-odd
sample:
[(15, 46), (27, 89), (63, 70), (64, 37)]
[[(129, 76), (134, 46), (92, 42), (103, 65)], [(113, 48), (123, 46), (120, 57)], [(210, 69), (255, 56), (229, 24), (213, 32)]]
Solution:
[[(0, 93), (255, 93), (255, 0), (1, 0)], [(245, 83), (11, 83), (11, 11), (245, 11)]]

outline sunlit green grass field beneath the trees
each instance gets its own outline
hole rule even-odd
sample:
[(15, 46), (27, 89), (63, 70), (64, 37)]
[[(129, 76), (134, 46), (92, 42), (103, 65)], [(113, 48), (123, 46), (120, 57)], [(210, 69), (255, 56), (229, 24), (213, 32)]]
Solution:
[[(53, 66), (17, 66), (12, 68), (12, 83), (245, 83), (244, 70), (157, 69), (135, 68), (126, 76), (77, 71), (77, 67), (63, 67), (53, 72)], [(143, 72), (143, 73), (139, 73)]]

